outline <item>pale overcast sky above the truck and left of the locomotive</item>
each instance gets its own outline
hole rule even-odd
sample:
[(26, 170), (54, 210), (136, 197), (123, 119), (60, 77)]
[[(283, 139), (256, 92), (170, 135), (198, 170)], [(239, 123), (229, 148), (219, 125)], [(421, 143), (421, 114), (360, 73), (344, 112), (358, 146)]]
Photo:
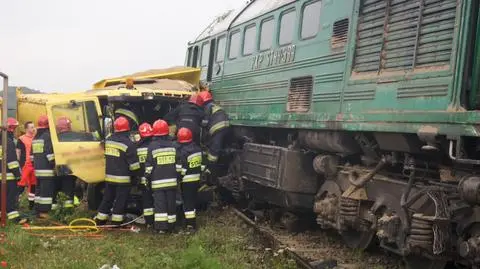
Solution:
[(9, 0), (0, 71), (10, 85), (85, 90), (112, 76), (183, 65), (187, 42), (245, 0)]

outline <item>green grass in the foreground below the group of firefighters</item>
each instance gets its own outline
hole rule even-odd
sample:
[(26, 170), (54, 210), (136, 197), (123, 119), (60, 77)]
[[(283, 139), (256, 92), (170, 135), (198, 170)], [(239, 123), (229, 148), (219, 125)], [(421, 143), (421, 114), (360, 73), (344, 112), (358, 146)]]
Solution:
[[(59, 216), (68, 221), (90, 214), (77, 208), (73, 216)], [(6, 241), (0, 244), (0, 261), (6, 261), (8, 268), (28, 269), (85, 269), (104, 264), (116, 264), (121, 269), (296, 268), (286, 257), (264, 251), (255, 242), (253, 231), (228, 210), (200, 214), (199, 226), (194, 235), (104, 231), (102, 238), (93, 239), (59, 238), (52, 231), (42, 232), (48, 237), (34, 237), (19, 226), (10, 225), (6, 228)]]

